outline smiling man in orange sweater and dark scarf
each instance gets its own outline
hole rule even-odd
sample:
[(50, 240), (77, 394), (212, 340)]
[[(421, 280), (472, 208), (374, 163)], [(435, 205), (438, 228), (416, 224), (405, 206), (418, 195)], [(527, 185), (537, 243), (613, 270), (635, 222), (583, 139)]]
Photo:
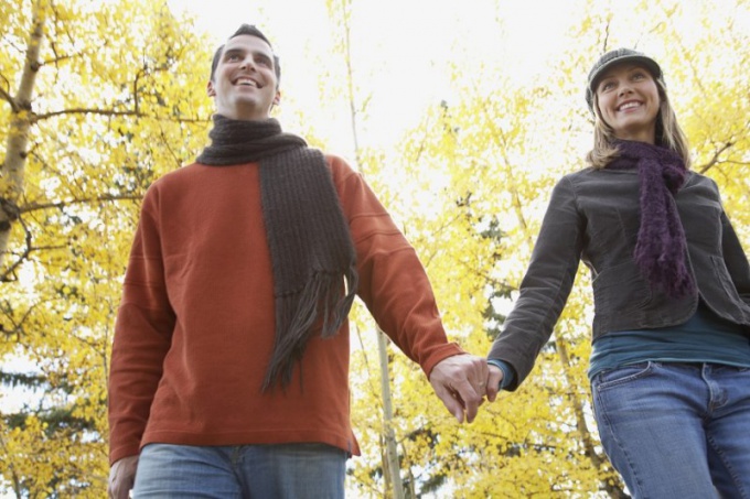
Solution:
[(138, 498), (343, 497), (355, 292), (459, 422), (482, 402), (486, 361), (448, 343), (364, 180), (269, 118), (279, 77), (240, 26), (214, 56), (211, 145), (143, 199), (109, 377), (110, 497), (133, 477)]

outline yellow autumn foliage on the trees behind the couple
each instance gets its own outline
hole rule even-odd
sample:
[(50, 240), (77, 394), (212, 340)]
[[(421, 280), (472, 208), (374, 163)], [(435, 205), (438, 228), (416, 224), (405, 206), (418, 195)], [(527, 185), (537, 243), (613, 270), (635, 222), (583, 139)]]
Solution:
[[(585, 74), (607, 48), (638, 46), (660, 61), (694, 167), (717, 181), (750, 248), (748, 0), (571, 1), (576, 22), (558, 53), (523, 82), (503, 59), (523, 47), (500, 45), (507, 2), (478, 1), (492, 15), (475, 28), (492, 33), (497, 56), (473, 57), (460, 31), (446, 32), (456, 47), (440, 55), (451, 95), (387, 145), (366, 127), (377, 100), (369, 78), (387, 62), (356, 46), (367, 22), (360, 9), (372, 2), (322, 2), (333, 28), (320, 37), (331, 52), (315, 54), (324, 70), (306, 85), (325, 110), (297, 109), (292, 97), (282, 124), (328, 149), (311, 115), (352, 113), (352, 162), (417, 248), (450, 339), (464, 349), (489, 350), (551, 186), (583, 165)], [(0, 25), (0, 495), (100, 498), (109, 349), (139, 203), (206, 142), (213, 46), (164, 0), (9, 0)], [(624, 497), (591, 417), (588, 289), (581, 268), (529, 379), (485, 403), (471, 425), (457, 425), (420, 369), (390, 349), (407, 497)], [(363, 456), (350, 462), (347, 489), (390, 497), (376, 327), (361, 304), (352, 316), (352, 420)], [(22, 388), (24, 403), (12, 403)]]

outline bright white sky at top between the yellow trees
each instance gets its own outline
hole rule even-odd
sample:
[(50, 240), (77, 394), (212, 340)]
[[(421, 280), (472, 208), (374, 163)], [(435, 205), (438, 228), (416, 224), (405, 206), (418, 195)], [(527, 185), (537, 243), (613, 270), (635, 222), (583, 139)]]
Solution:
[[(352, 50), (360, 85), (372, 91), (371, 141), (393, 145), (425, 107), (453, 100), (449, 63), (464, 59), (467, 70), (472, 70), (476, 64), (500, 59), (514, 68), (519, 82), (544, 73), (576, 3), (513, 0), (503, 4), (497, 22), (494, 2), (482, 0), (354, 2)], [(308, 76), (320, 70), (315, 66), (330, 62), (324, 1), (169, 0), (169, 4), (175, 12), (195, 15), (196, 28), (205, 30), (216, 46), (240, 23), (257, 24), (281, 57), (281, 112), (290, 98), (310, 115), (324, 107), (318, 88), (308, 85), (313, 80)], [(339, 121), (345, 121), (341, 115), (345, 110), (325, 126), (336, 130)], [(342, 134), (330, 134), (331, 145), (346, 152), (346, 140), (335, 139)]]

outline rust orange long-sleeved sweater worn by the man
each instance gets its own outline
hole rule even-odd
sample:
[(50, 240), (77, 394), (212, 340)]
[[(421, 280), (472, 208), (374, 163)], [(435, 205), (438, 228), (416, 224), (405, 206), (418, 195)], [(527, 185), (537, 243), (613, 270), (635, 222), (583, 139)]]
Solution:
[[(356, 247), (357, 294), (429, 376), (448, 343), (415, 250), (360, 174), (326, 156)], [(148, 443), (322, 442), (358, 454), (350, 423), (349, 324), (310, 340), (286, 392), (261, 392), (274, 283), (255, 163), (192, 164), (142, 204), (109, 375), (110, 462)]]

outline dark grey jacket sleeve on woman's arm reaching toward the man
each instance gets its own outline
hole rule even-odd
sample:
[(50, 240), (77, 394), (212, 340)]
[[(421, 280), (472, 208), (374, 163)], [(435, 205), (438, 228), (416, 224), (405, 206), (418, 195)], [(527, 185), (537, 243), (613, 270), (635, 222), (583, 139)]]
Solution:
[(578, 271), (585, 230), (572, 184), (562, 177), (553, 189), (518, 299), (488, 356), (515, 370), (506, 387), (510, 391), (532, 371), (562, 312)]

